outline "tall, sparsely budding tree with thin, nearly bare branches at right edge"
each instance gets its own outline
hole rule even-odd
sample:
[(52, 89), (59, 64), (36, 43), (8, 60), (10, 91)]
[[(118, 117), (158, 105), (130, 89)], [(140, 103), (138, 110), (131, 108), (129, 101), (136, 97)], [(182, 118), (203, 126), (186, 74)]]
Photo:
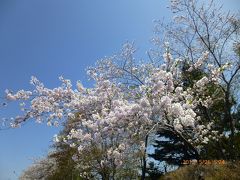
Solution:
[[(173, 22), (166, 24), (156, 21), (155, 36), (152, 38), (156, 48), (149, 51), (149, 55), (158, 60), (162, 42), (167, 41), (172, 54), (181, 57), (187, 64), (202, 66), (205, 72), (216, 70), (221, 79), (218, 91), (222, 94), (218, 101), (224, 103), (224, 109), (217, 112), (222, 114), (218, 119), (223, 124), (222, 132), (230, 130), (231, 148), (235, 151), (231, 152), (231, 158), (235, 158), (237, 150), (234, 148), (234, 137), (238, 120), (233, 114), (239, 106), (240, 21), (239, 13), (224, 12), (222, 6), (216, 3), (214, 0), (205, 3), (198, 0), (172, 0), (170, 8), (175, 14)], [(204, 51), (209, 53), (208, 60), (201, 64)], [(216, 113), (209, 108), (203, 107), (202, 111), (205, 111), (205, 119), (209, 122), (215, 118)]]

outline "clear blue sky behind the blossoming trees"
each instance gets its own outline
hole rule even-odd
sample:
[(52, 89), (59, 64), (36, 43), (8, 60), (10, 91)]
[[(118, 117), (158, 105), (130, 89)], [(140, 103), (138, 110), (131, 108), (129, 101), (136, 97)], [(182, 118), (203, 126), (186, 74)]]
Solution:
[[(169, 18), (167, 0), (0, 0), (0, 95), (6, 88), (31, 88), (31, 75), (48, 87), (63, 75), (90, 86), (85, 68), (117, 52), (129, 40), (139, 52), (150, 47), (153, 19)], [(221, 0), (237, 10), (238, 0)], [(16, 106), (0, 117), (17, 114)], [(17, 179), (44, 155), (56, 128), (30, 122), (0, 131), (0, 180)], [(16, 172), (14, 174), (14, 171)]]

